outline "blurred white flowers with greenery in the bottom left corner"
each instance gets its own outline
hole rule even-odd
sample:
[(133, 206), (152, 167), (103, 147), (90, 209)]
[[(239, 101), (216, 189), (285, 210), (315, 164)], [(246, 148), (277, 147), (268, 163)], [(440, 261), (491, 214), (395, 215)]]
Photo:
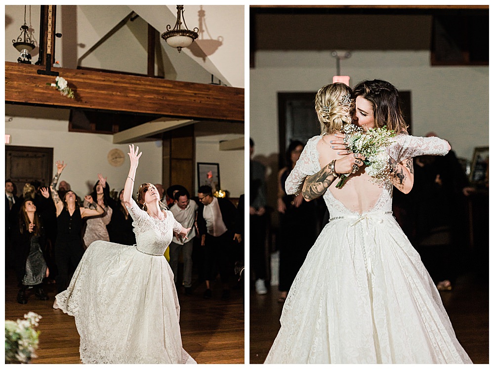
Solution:
[(24, 320), (5, 321), (5, 364), (29, 364), (37, 357), (35, 350), (40, 332), (34, 328), (38, 327), (40, 319), (40, 315), (30, 311), (24, 314)]

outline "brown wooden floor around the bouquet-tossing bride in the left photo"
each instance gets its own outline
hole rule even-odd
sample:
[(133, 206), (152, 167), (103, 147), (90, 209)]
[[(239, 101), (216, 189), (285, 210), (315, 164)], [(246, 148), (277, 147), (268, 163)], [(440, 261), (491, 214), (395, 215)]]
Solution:
[[(5, 279), (5, 319), (16, 320), (33, 311), (42, 316), (38, 358), (33, 364), (81, 364), (79, 334), (74, 317), (52, 308), (54, 285), (48, 285), (48, 301), (40, 301), (34, 293), (25, 305), (16, 302), (14, 275)], [(221, 300), (221, 286), (213, 285), (213, 297), (203, 298), (204, 285), (194, 289), (192, 296), (179, 292), (180, 328), (184, 349), (198, 364), (244, 364), (244, 291), (232, 289), (231, 298)], [(123, 307), (124, 308), (124, 307)]]

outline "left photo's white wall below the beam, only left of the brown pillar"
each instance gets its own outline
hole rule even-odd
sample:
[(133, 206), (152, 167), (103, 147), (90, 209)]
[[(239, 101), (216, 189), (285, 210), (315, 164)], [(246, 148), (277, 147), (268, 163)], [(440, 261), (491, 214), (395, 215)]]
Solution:
[[(110, 189), (120, 191), (124, 188), (129, 169), (128, 145), (114, 145), (110, 134), (68, 132), (68, 122), (50, 121), (14, 117), (11, 122), (5, 120), (5, 133), (11, 135), (11, 146), (34, 146), (53, 148), (53, 174), (55, 162), (64, 161), (67, 167), (59, 179), (70, 183), (73, 191), (81, 198), (89, 194), (98, 173), (107, 177)], [(142, 156), (135, 177), (135, 191), (143, 182), (160, 183), (162, 181), (162, 148), (160, 141), (138, 143)], [(118, 148), (125, 154), (121, 166), (108, 163), (107, 155)]]

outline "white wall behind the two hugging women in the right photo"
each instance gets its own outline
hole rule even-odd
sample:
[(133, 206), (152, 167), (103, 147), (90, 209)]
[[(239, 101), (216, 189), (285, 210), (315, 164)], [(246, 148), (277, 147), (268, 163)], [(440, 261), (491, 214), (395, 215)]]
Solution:
[[(412, 92), (412, 134), (435, 131), (456, 155), (470, 160), (489, 145), (489, 66), (432, 67), (427, 51), (356, 51), (341, 61), (350, 85), (382, 79)], [(256, 154), (278, 153), (278, 92), (317, 92), (332, 82), (329, 51), (257, 52), (250, 69), (250, 136)]]

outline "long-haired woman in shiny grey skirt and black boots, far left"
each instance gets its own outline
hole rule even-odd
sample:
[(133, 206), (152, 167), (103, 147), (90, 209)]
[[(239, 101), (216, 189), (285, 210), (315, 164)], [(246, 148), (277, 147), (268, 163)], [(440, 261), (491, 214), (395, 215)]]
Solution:
[(16, 274), (19, 282), (17, 302), (28, 302), (27, 290), (35, 288), (35, 295), (40, 300), (47, 300), (44, 292), (43, 278), (48, 277), (49, 271), (41, 250), (45, 244), (45, 233), (41, 217), (36, 211), (36, 205), (31, 199), (26, 199), (21, 204), (19, 221), (14, 227), (13, 238), (15, 240)]

